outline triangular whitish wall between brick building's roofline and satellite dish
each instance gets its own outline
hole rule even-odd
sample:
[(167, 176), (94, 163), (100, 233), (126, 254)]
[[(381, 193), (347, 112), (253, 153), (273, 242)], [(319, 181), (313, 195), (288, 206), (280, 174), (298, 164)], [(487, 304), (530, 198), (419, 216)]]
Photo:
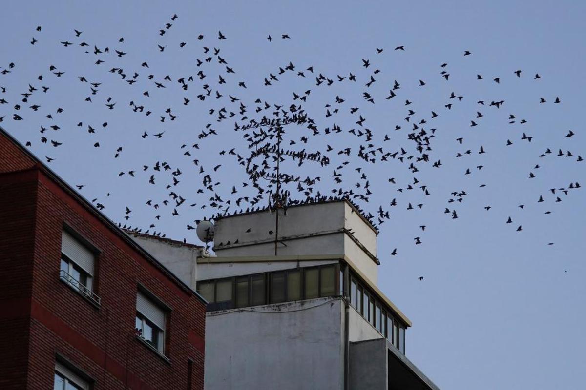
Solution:
[(200, 254), (199, 248), (183, 246), (171, 241), (161, 241), (154, 237), (134, 236), (133, 234), (129, 234), (129, 236), (182, 282), (195, 289), (197, 281), (196, 259)]

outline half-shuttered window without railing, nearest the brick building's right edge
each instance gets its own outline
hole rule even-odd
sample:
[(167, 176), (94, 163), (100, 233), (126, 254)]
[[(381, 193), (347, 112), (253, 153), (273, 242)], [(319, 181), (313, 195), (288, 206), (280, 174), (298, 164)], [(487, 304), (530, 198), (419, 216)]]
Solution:
[(165, 322), (165, 310), (139, 291), (135, 331), (137, 336), (147, 341), (161, 354), (165, 353)]

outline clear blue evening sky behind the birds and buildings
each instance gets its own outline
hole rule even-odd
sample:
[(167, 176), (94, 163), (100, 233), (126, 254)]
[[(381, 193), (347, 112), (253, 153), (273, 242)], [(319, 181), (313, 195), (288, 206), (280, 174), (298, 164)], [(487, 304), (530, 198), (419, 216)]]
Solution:
[[(159, 35), (174, 13), (178, 18), (172, 27)], [(55, 158), (49, 166), (70, 184), (85, 185), (81, 194), (97, 199), (116, 222), (144, 229), (155, 223), (155, 230), (169, 237), (197, 242), (186, 225), (211, 215), (209, 206), (201, 208), (209, 205), (210, 196), (217, 193), (224, 200), (235, 200), (230, 194), (233, 185), (238, 195), (254, 196), (250, 187), (243, 188), (247, 177), (236, 160), (219, 155), (220, 150), (235, 147), (246, 156), (246, 142), (233, 130), (240, 117), (240, 101), (247, 105), (248, 117), (254, 118), (255, 99), (287, 107), (299, 103), (292, 100), (292, 92), (302, 95), (311, 89), (304, 108), (321, 134), (309, 137), (301, 147), (325, 150), (329, 144), (335, 151), (352, 147), (353, 153), (349, 158), (334, 154), (332, 164), (323, 169), (309, 164), (286, 167), (297, 175), (319, 172), (322, 183), (314, 191), (322, 193), (336, 187), (332, 170), (343, 161), (349, 162), (339, 170), (345, 189), (364, 189), (355, 187), (356, 182), (364, 184), (355, 168), (367, 175), (373, 194), (368, 203), (357, 203), (367, 212), (376, 213), (383, 205), (391, 213), (380, 227), (379, 285), (413, 321), (407, 332), (407, 356), (444, 389), (580, 389), (581, 351), (586, 347), (582, 331), (586, 205), (582, 189), (570, 189), (565, 195), (559, 188), (567, 188), (570, 182), (584, 184), (584, 163), (576, 160), (578, 155), (586, 157), (582, 126), (585, 13), (586, 5), (577, 1), (200, 1), (173, 5), (30, 1), (26, 6), (9, 2), (0, 15), (0, 72), (11, 62), (15, 67), (11, 73), (0, 73), (0, 87), (6, 87), (0, 99), (8, 101), (0, 105), (0, 116), (4, 116), (0, 126), (22, 143), (30, 141), (30, 149), (40, 158)], [(37, 26), (42, 26), (40, 32)], [(82, 32), (80, 37), (74, 29)], [(219, 30), (226, 40), (217, 39)], [(202, 40), (197, 39), (199, 34)], [(266, 39), (269, 34), (272, 42)], [(281, 34), (291, 39), (281, 39)], [(38, 40), (35, 45), (30, 44), (32, 37)], [(62, 41), (74, 45), (63, 47)], [(86, 54), (78, 46), (81, 41), (90, 44), (91, 51), (95, 44), (111, 52)], [(179, 47), (180, 42), (185, 47)], [(165, 50), (161, 52), (158, 44)], [(203, 53), (204, 46), (210, 47), (210, 53), (219, 48), (219, 56), (236, 74), (226, 74), (216, 56), (197, 67), (196, 58), (203, 61), (212, 55)], [(393, 50), (396, 46), (406, 50)], [(383, 52), (377, 54), (376, 48)], [(117, 57), (114, 49), (127, 54)], [(464, 56), (465, 50), (472, 54)], [(94, 65), (98, 58), (105, 62)], [(363, 58), (372, 64), (369, 68), (362, 66)], [(141, 67), (144, 61), (148, 69)], [(265, 87), (263, 79), (277, 74), (289, 61), (295, 64), (295, 72), (277, 75), (280, 80)], [(443, 63), (448, 64), (448, 81), (440, 74)], [(50, 65), (65, 74), (57, 78), (49, 72)], [(310, 66), (314, 74), (306, 70)], [(112, 67), (124, 68), (127, 80), (136, 71), (137, 82), (128, 85), (120, 75), (108, 72)], [(376, 69), (380, 73), (373, 74)], [(196, 76), (199, 70), (206, 74), (203, 81)], [(298, 70), (306, 77), (298, 76)], [(522, 70), (521, 77), (516, 77), (516, 70)], [(357, 82), (337, 81), (337, 75), (350, 72)], [(319, 73), (334, 80), (333, 85), (316, 86)], [(541, 76), (538, 80), (534, 80), (536, 73)], [(149, 74), (154, 74), (154, 80), (147, 79)], [(217, 84), (219, 74), (226, 78), (226, 85)], [(483, 79), (476, 80), (477, 74)], [(163, 81), (165, 75), (172, 82)], [(183, 91), (176, 80), (189, 75), (195, 82)], [(364, 84), (370, 75), (376, 82), (367, 88)], [(96, 95), (91, 95), (90, 85), (79, 81), (82, 76), (101, 83)], [(496, 77), (499, 84), (493, 81)], [(394, 80), (401, 88), (389, 101), (384, 98)], [(425, 82), (423, 87), (419, 80)], [(167, 88), (156, 88), (153, 81)], [(245, 81), (247, 88), (238, 87), (239, 81)], [(20, 94), (29, 84), (39, 91), (23, 103)], [(203, 102), (196, 97), (204, 92), (202, 84), (213, 90)], [(45, 94), (40, 90), (43, 85), (50, 88)], [(216, 90), (222, 98), (214, 98)], [(149, 91), (149, 98), (142, 95), (144, 91)], [(374, 96), (374, 105), (363, 99), (365, 91)], [(452, 91), (464, 96), (461, 102), (449, 99)], [(240, 101), (230, 103), (228, 95)], [(336, 104), (336, 95), (345, 102)], [(84, 101), (87, 96), (91, 103)], [(559, 104), (553, 103), (556, 96)], [(113, 110), (105, 106), (108, 97), (117, 102)], [(184, 97), (190, 99), (187, 106)], [(540, 98), (546, 103), (540, 103)], [(413, 103), (405, 106), (406, 99)], [(488, 106), (500, 100), (505, 100), (502, 108)], [(132, 111), (130, 101), (144, 105), (152, 115)], [(14, 108), (17, 103), (20, 110)], [(339, 113), (326, 118), (328, 103)], [(448, 103), (452, 109), (445, 108)], [(40, 105), (38, 111), (29, 108), (33, 104)], [(237, 115), (217, 122), (217, 109), (222, 107)], [(350, 107), (359, 111), (350, 114)], [(57, 108), (64, 111), (57, 113)], [(171, 122), (167, 116), (160, 122), (167, 108), (178, 118)], [(210, 109), (214, 109), (212, 115)], [(389, 152), (404, 147), (406, 156), (418, 156), (413, 142), (407, 140), (413, 126), (404, 120), (408, 109), (415, 111), (417, 123), (427, 120), (426, 130), (437, 129), (430, 158), (441, 159), (441, 168), (418, 164), (420, 171), (412, 174), (407, 161), (368, 164), (356, 157), (359, 145), (368, 143), (347, 132), (359, 129), (358, 115), (366, 118), (363, 126), (372, 130), (377, 147)], [(431, 111), (438, 117), (430, 119)], [(476, 119), (477, 111), (482, 118)], [(12, 120), (14, 113), (24, 120)], [(46, 118), (49, 113), (53, 119)], [(510, 115), (515, 115), (515, 123), (509, 123)], [(522, 119), (527, 123), (521, 124)], [(470, 127), (471, 120), (478, 126)], [(78, 122), (83, 126), (78, 127)], [(108, 122), (105, 128), (104, 122)], [(198, 139), (208, 123), (217, 136)], [(323, 129), (333, 123), (344, 131), (324, 134)], [(60, 129), (39, 133), (40, 126), (51, 125)], [(96, 133), (88, 133), (88, 125)], [(396, 125), (401, 130), (395, 131)], [(569, 130), (575, 133), (573, 137), (565, 137)], [(149, 136), (143, 139), (145, 131)], [(161, 139), (154, 137), (162, 131)], [(297, 141), (292, 148), (299, 146), (299, 137), (308, 135), (302, 127), (287, 132), (287, 140)], [(523, 133), (533, 137), (530, 143), (521, 139)], [(390, 141), (383, 141), (385, 134)], [(42, 136), (47, 137), (46, 144), (40, 141)], [(456, 141), (459, 137), (462, 144)], [(506, 146), (507, 139), (513, 144)], [(53, 147), (50, 140), (63, 145)], [(93, 146), (96, 142), (100, 147)], [(199, 149), (192, 147), (194, 143)], [(183, 149), (182, 144), (186, 144)], [(480, 146), (485, 154), (478, 154)], [(118, 147), (122, 151), (114, 158)], [(547, 148), (554, 153), (539, 157)], [(558, 149), (564, 157), (557, 156)], [(186, 150), (191, 156), (183, 154)], [(466, 150), (471, 153), (464, 154)], [(568, 150), (573, 156), (565, 157)], [(455, 157), (457, 153), (464, 156)], [(222, 184), (197, 194), (203, 175), (193, 159)], [(153, 172), (156, 161), (183, 171), (180, 183), (171, 189), (187, 199), (178, 208), (179, 216), (172, 216), (169, 206), (154, 210), (145, 205), (148, 199), (153, 203), (169, 199), (171, 190), (165, 185), (171, 176)], [(214, 172), (217, 164), (222, 167)], [(536, 164), (540, 167), (534, 168)], [(149, 166), (145, 172), (143, 165)], [(471, 174), (465, 175), (468, 168)], [(130, 170), (136, 177), (128, 175)], [(119, 177), (119, 172), (125, 174)], [(529, 178), (530, 172), (536, 177)], [(156, 174), (157, 185), (148, 183), (151, 174)], [(391, 177), (396, 185), (388, 181)], [(416, 186), (405, 189), (413, 184), (413, 177), (420, 181), (418, 185), (428, 186), (430, 196), (423, 196)], [(550, 188), (556, 188), (556, 194)], [(452, 191), (467, 195), (462, 202), (448, 203), (454, 198)], [(537, 203), (540, 195), (545, 202)], [(561, 202), (555, 202), (556, 196)], [(393, 198), (397, 206), (389, 205)], [(414, 210), (407, 210), (410, 202)], [(421, 209), (415, 206), (418, 203), (423, 203)], [(125, 206), (132, 209), (128, 221), (123, 219)], [(451, 219), (445, 208), (456, 209), (459, 218)], [(156, 215), (161, 215), (160, 220)], [(506, 224), (509, 216), (513, 223)], [(424, 232), (420, 225), (426, 226)], [(516, 232), (519, 225), (522, 231)], [(414, 237), (421, 237), (422, 244), (415, 246)], [(397, 256), (390, 256), (395, 247)], [(417, 279), (420, 276), (423, 281)]]

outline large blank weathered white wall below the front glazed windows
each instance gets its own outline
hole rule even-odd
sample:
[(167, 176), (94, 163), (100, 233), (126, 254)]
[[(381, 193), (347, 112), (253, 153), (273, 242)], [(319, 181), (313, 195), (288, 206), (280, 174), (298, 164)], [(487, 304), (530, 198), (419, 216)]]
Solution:
[(208, 313), (206, 390), (342, 389), (339, 298)]

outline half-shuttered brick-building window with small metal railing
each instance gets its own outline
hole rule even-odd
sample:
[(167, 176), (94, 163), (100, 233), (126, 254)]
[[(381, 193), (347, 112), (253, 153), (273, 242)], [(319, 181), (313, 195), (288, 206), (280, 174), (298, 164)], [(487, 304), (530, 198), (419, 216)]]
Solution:
[(96, 303), (100, 303), (100, 298), (93, 294), (94, 257), (90, 249), (63, 230), (60, 278)]

